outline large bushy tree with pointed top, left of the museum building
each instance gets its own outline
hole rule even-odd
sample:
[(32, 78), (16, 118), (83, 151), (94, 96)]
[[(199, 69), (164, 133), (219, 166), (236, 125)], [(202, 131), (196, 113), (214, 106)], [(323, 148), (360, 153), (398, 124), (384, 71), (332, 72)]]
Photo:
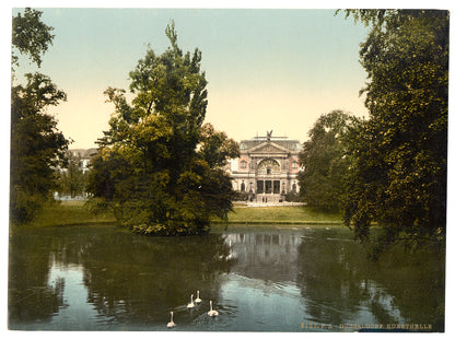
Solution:
[(88, 189), (110, 207), (121, 224), (145, 234), (198, 234), (212, 215), (232, 209), (230, 177), (222, 171), (238, 145), (203, 125), (207, 80), (201, 52), (185, 55), (172, 22), (171, 46), (149, 49), (130, 72), (131, 93), (108, 87), (115, 106), (109, 130), (98, 140)]

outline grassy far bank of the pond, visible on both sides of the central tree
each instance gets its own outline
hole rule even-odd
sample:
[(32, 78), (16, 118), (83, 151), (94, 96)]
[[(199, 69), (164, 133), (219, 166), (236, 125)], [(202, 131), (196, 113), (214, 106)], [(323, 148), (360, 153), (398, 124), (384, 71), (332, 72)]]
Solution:
[[(292, 225), (326, 225), (342, 226), (338, 213), (320, 212), (306, 206), (255, 207), (245, 208), (234, 204), (228, 220), (211, 220), (211, 224), (292, 224)], [(46, 206), (37, 218), (23, 227), (71, 226), (90, 224), (115, 224), (112, 213), (94, 214), (89, 211), (83, 200), (70, 200)]]

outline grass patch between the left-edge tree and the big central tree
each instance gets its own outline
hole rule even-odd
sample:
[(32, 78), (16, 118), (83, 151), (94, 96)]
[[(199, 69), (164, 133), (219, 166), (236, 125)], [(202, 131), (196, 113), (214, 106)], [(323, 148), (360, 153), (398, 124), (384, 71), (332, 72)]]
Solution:
[(106, 222), (115, 222), (115, 218), (108, 213), (91, 213), (83, 201), (62, 201), (46, 206), (42, 213), (26, 226), (65, 226)]

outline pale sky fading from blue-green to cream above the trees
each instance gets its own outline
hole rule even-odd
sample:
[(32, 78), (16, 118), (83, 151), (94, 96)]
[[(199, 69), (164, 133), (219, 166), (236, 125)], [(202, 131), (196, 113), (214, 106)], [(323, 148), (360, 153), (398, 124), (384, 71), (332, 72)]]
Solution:
[[(180, 48), (202, 52), (206, 122), (234, 140), (273, 130), (273, 136), (305, 141), (322, 114), (368, 115), (359, 96), (366, 81), (359, 44), (368, 28), (335, 10), (39, 10), (55, 34), (39, 72), (68, 95), (49, 113), (73, 140), (72, 149), (95, 147), (114, 112), (103, 92), (108, 86), (129, 91), (128, 74), (147, 49), (162, 54), (170, 46), (164, 31), (171, 20)], [(23, 59), (16, 74), (36, 70)]]

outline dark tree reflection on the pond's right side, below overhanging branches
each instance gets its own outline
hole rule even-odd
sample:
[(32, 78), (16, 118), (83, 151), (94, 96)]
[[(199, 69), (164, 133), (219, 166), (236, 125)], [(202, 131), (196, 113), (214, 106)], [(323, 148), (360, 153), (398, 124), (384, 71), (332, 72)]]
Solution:
[(340, 237), (307, 237), (300, 245), (298, 283), (310, 320), (432, 324), (443, 330), (444, 254), (396, 247), (373, 262), (364, 246)]

